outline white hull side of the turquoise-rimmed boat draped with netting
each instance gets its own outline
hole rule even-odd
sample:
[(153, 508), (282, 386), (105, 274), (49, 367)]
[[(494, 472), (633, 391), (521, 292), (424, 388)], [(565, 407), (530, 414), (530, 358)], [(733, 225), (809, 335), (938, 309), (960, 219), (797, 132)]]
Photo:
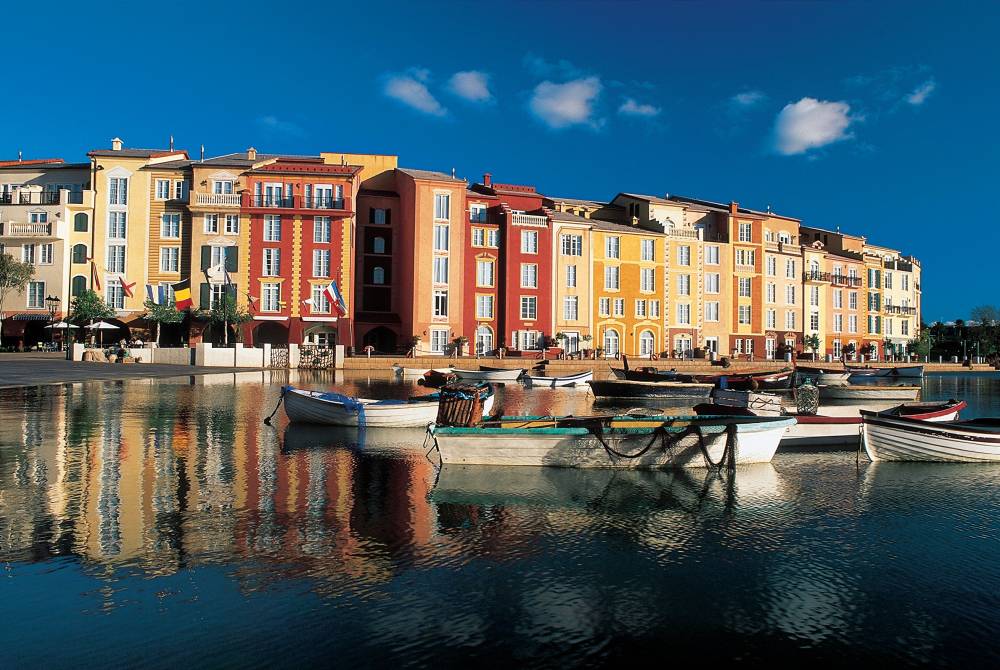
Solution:
[[(794, 419), (735, 425), (736, 464), (768, 463)], [(600, 438), (583, 428), (432, 428), (443, 464), (563, 468), (707, 468), (719, 464), (730, 439), (726, 424), (705, 424), (705, 452), (694, 433), (666, 444), (654, 431), (611, 431)], [(650, 444), (652, 446), (650, 447)], [(608, 448), (605, 448), (607, 445)], [(637, 458), (618, 454), (636, 454)], [(615, 453), (617, 452), (617, 454)], [(711, 463), (709, 462), (711, 460)]]

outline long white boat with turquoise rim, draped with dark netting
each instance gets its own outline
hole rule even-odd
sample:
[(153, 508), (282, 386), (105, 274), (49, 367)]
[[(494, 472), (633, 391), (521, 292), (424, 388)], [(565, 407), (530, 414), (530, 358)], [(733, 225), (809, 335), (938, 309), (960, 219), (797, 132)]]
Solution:
[(790, 417), (511, 416), (432, 425), (441, 463), (572, 468), (713, 468), (768, 463)]

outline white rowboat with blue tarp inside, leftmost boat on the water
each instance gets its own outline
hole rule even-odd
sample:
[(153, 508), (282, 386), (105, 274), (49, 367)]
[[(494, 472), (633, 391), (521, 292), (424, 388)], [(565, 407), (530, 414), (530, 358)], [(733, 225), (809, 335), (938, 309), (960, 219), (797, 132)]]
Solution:
[[(489, 385), (481, 388), (485, 394), (485, 416), (493, 409), (494, 398)], [(432, 393), (409, 400), (370, 400), (327, 391), (307, 391), (293, 386), (285, 386), (281, 392), (289, 421), (326, 426), (426, 426), (437, 419), (442, 398), (441, 393)]]

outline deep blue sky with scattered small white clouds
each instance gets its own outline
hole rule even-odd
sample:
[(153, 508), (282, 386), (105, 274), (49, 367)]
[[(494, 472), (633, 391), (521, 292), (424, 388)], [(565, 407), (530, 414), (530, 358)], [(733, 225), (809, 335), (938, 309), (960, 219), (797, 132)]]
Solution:
[[(120, 136), (770, 205), (998, 304), (1000, 3), (16, 3), (0, 159)], [(961, 280), (961, 281), (958, 281)], [(956, 283), (957, 282), (957, 283)], [(956, 289), (957, 287), (957, 289)]]

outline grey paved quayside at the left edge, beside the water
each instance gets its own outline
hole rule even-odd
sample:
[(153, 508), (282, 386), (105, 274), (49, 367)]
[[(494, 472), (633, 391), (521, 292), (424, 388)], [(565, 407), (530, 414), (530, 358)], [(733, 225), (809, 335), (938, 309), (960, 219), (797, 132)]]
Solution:
[(194, 365), (83, 363), (67, 361), (63, 353), (0, 354), (0, 389), (40, 384), (117, 381), (156, 377), (231, 374), (248, 368), (206, 368)]

